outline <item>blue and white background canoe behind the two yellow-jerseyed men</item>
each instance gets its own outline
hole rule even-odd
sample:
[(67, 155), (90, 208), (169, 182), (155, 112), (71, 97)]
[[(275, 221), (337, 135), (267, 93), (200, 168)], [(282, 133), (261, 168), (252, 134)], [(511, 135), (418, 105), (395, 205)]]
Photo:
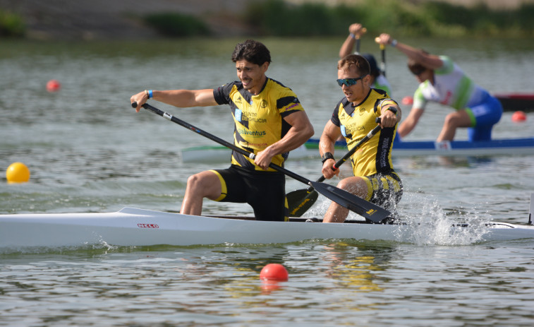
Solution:
[[(318, 158), (319, 140), (310, 138), (289, 153), (290, 159)], [(336, 157), (347, 153), (344, 141), (336, 142)], [(183, 162), (229, 162), (231, 150), (224, 146), (199, 146), (181, 151)], [(394, 157), (439, 155), (482, 157), (492, 155), (534, 155), (534, 138), (504, 138), (492, 141), (401, 141), (393, 144)]]

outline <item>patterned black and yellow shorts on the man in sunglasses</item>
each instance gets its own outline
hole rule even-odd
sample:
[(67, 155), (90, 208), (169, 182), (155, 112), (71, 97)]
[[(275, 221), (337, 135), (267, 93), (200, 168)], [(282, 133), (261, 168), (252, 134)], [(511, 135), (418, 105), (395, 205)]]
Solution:
[(388, 210), (394, 210), (402, 198), (402, 181), (393, 170), (362, 177), (367, 183), (366, 201)]

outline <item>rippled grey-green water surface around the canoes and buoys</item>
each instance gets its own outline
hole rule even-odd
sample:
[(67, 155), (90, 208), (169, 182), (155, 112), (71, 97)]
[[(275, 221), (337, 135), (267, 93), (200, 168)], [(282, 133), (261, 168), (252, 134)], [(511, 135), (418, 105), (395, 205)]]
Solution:
[[(229, 57), (242, 40), (44, 44), (0, 49), (0, 167), (24, 162), (27, 184), (0, 181), (0, 213), (104, 212), (132, 206), (178, 210), (186, 179), (226, 163), (181, 162), (179, 153), (212, 145), (129, 97), (147, 88), (213, 88), (236, 79)], [(262, 40), (267, 75), (295, 90), (318, 137), (342, 94), (334, 83), (339, 40)], [(449, 54), (495, 93), (533, 92), (531, 40), (411, 40)], [(380, 58), (379, 49), (363, 42)], [(401, 100), (416, 87), (405, 57), (387, 51), (387, 76)], [(52, 78), (61, 82), (47, 93)], [(231, 139), (227, 107), (176, 109)], [(406, 115), (409, 107), (403, 106)], [(433, 139), (449, 109), (430, 107), (409, 138)], [(534, 136), (505, 113), (496, 138)], [(460, 131), (458, 139), (466, 138)], [(394, 161), (406, 220), (526, 223), (533, 157), (402, 158)], [(317, 160), (286, 167), (310, 179)], [(286, 189), (303, 184), (287, 180)], [(307, 215), (321, 216), (328, 201)], [(250, 215), (248, 206), (205, 202), (205, 213)], [(478, 244), (420, 231), (415, 244), (308, 241), (293, 244), (20, 249), (0, 252), (3, 326), (532, 326), (534, 243)], [(260, 282), (267, 263), (289, 281)]]

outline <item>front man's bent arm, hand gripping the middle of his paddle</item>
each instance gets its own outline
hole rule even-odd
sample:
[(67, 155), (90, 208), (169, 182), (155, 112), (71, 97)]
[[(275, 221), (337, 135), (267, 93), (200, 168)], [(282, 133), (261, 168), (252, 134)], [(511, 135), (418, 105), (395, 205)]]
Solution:
[(305, 112), (293, 112), (293, 114), (285, 117), (284, 120), (291, 125), (286, 135), (280, 141), (269, 145), (256, 155), (255, 164), (264, 170), (269, 167), (272, 157), (298, 148), (313, 136), (313, 126)]

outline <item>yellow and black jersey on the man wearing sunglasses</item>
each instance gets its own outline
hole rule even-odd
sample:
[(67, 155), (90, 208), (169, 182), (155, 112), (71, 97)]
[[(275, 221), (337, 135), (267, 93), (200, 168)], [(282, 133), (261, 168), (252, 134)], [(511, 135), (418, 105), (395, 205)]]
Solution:
[[(341, 129), (348, 150), (377, 126), (375, 119), (382, 114), (382, 106), (392, 104), (397, 105), (385, 91), (374, 88), (356, 107), (346, 97), (338, 102), (331, 121)], [(354, 176), (370, 176), (393, 170), (392, 148), (396, 127), (382, 129), (352, 155)]]

